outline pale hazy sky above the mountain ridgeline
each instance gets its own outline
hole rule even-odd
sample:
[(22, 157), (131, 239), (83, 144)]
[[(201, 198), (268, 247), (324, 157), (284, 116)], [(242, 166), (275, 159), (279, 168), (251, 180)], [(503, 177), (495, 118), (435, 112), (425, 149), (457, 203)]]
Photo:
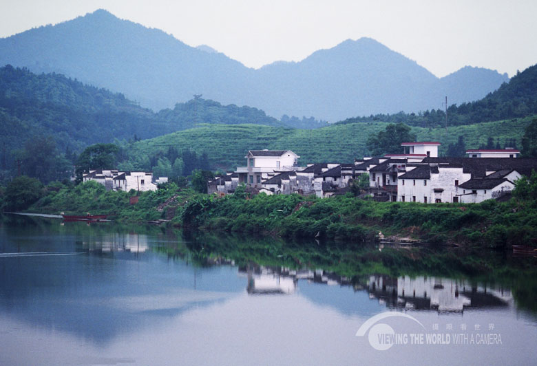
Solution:
[(537, 63), (537, 0), (0, 0), (0, 37), (98, 8), (255, 68), (363, 36), (436, 76), (465, 65), (512, 76)]

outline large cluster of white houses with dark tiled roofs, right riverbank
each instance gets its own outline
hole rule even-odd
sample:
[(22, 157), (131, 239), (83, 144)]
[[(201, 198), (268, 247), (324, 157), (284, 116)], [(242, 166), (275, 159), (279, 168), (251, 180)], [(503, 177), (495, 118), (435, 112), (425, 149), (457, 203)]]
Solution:
[(401, 154), (364, 158), (351, 164), (299, 166), (293, 151), (251, 150), (240, 166), (208, 183), (209, 193), (250, 193), (329, 197), (350, 191), (368, 174), (367, 193), (380, 201), (477, 203), (509, 195), (521, 175), (537, 171), (537, 159), (518, 158), (516, 149), (468, 150), (468, 158), (439, 158), (439, 142), (403, 142)]

